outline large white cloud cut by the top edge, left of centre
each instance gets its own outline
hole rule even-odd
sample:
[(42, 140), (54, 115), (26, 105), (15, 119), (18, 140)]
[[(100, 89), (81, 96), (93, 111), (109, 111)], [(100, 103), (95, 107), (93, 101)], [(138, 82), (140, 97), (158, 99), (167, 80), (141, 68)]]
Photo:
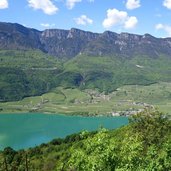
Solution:
[(45, 14), (53, 15), (58, 11), (58, 8), (51, 0), (28, 0), (29, 6), (34, 9), (41, 9)]

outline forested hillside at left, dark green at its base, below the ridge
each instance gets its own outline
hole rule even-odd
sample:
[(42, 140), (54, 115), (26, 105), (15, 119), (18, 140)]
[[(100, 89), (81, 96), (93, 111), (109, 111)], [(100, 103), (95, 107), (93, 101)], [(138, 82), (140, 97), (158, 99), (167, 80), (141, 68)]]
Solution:
[(40, 95), (57, 85), (62, 65), (41, 51), (0, 51), (0, 101)]

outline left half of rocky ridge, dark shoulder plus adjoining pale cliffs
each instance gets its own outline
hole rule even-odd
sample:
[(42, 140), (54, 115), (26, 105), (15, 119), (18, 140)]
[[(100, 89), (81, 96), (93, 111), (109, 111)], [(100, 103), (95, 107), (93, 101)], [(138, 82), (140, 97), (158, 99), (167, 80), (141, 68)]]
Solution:
[(39, 49), (59, 58), (70, 58), (79, 54), (98, 35), (74, 28), (38, 31), (19, 24), (0, 22), (0, 49)]

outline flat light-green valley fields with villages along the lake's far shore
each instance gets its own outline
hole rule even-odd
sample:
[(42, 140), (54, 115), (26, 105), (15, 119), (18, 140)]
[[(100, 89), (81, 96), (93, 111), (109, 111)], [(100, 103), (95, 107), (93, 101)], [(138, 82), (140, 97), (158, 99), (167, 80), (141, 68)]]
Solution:
[(41, 96), (0, 103), (1, 113), (42, 112), (74, 115), (111, 115), (156, 107), (170, 113), (171, 83), (126, 85), (109, 94), (96, 90), (58, 87)]

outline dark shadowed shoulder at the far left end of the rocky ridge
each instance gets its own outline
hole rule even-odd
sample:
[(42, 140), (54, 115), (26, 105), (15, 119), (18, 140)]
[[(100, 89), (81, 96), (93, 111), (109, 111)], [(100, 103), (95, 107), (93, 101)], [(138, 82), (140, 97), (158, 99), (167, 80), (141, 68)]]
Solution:
[(40, 31), (26, 28), (20, 24), (0, 22), (0, 49), (40, 49), (43, 51), (40, 35)]

